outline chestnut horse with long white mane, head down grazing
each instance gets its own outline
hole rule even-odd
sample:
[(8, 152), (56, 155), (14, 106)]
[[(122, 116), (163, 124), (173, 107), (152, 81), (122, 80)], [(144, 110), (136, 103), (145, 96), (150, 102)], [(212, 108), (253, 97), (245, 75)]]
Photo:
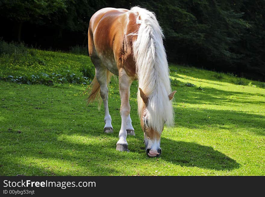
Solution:
[(116, 150), (128, 151), (127, 134), (135, 135), (130, 118), (130, 86), (139, 82), (138, 113), (149, 157), (161, 154), (160, 138), (164, 124), (173, 125), (173, 107), (163, 32), (155, 15), (143, 8), (131, 10), (103, 8), (90, 19), (89, 56), (95, 66), (88, 103), (104, 103), (106, 133), (113, 132), (108, 109), (108, 84), (112, 74), (119, 76), (121, 128)]

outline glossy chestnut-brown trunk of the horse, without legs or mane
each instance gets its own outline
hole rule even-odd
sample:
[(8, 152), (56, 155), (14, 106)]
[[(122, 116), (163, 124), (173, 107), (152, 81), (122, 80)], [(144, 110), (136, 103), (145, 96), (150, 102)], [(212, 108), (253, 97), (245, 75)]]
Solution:
[(89, 55), (101, 59), (103, 65), (118, 75), (124, 68), (127, 75), (135, 77), (133, 42), (137, 39), (138, 15), (126, 9), (103, 8), (89, 23)]

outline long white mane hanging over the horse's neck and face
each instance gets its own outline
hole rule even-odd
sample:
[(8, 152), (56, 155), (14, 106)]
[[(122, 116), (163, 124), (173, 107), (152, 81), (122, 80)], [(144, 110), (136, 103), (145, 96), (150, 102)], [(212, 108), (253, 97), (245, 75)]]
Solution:
[[(140, 23), (137, 40), (133, 43), (136, 74), (139, 88), (149, 97), (147, 106), (148, 125), (157, 132), (162, 132), (164, 124), (172, 126), (174, 113), (172, 102), (167, 56), (163, 45), (163, 32), (154, 13), (139, 7), (131, 8), (138, 13)], [(138, 113), (142, 117), (145, 104), (138, 90)]]

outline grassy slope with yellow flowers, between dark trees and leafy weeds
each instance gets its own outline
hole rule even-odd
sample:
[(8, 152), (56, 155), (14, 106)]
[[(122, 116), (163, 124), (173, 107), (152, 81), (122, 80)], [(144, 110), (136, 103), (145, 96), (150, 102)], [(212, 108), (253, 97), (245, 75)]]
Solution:
[[(48, 75), (51, 73), (61, 73), (66, 70), (71, 70), (76, 74), (80, 74), (80, 68), (83, 65), (91, 65), (91, 62), (86, 61), (88, 57), (84, 55), (67, 54), (54, 51), (42, 51), (38, 49), (28, 49), (30, 52), (27, 55), (21, 55), (20, 60), (14, 60), (14, 55), (0, 56), (0, 74), (5, 75), (31, 75), (45, 72)], [(67, 61), (66, 61), (67, 60)]]

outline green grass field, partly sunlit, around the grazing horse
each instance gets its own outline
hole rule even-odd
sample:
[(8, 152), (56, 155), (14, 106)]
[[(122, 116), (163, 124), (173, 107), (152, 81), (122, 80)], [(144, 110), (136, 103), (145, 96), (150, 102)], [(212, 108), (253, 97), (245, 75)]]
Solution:
[(118, 152), (117, 83), (109, 87), (114, 133), (105, 134), (104, 108), (86, 106), (86, 84), (27, 85), (6, 78), (65, 70), (81, 77), (80, 70), (92, 66), (89, 57), (30, 50), (23, 60), (0, 58), (0, 175), (265, 175), (264, 83), (171, 64), (175, 126), (164, 128), (161, 156), (149, 158), (136, 81), (130, 98), (136, 136), (127, 137), (129, 152)]

